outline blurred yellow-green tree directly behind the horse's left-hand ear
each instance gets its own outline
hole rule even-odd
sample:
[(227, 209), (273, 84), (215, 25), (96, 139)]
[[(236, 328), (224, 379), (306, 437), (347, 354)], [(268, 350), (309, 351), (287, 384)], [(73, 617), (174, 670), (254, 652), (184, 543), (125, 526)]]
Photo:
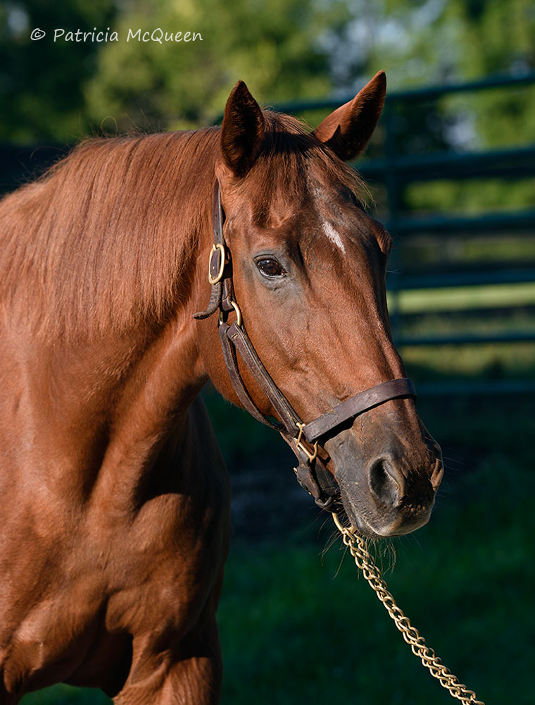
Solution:
[[(99, 54), (86, 88), (89, 111), (96, 120), (112, 115), (120, 128), (146, 115), (174, 129), (213, 121), (238, 79), (260, 101), (325, 94), (328, 56), (317, 39), (339, 14), (337, 1), (132, 1), (118, 21), (121, 41)], [(138, 27), (199, 32), (202, 41), (126, 42), (128, 29)]]

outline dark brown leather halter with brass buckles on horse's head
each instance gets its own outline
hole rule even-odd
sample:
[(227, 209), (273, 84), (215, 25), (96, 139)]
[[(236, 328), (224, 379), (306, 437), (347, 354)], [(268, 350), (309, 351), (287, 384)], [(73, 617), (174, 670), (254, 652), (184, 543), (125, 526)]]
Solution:
[[(329, 436), (336, 435), (349, 419), (353, 420), (379, 404), (401, 397), (416, 398), (415, 386), (411, 379), (390, 379), (356, 394), (351, 399), (346, 399), (308, 424), (303, 423), (301, 417), (271, 379), (246, 333), (241, 310), (234, 300), (232, 262), (230, 252), (225, 247), (222, 223), (221, 193), (216, 179), (213, 191), (214, 245), (210, 252), (208, 266), (208, 281), (212, 291), (206, 311), (194, 314), (194, 318), (208, 318), (219, 311), (218, 328), (223, 357), (239, 400), (253, 417), (279, 431), (287, 441), (299, 461), (298, 467), (295, 468), (298, 482), (313, 496), (316, 504), (322, 509), (337, 511), (340, 508), (340, 489), (323, 460), (317, 455), (318, 441), (320, 439), (325, 441)], [(229, 324), (227, 319), (229, 312), (232, 311), (236, 313), (236, 320)], [(239, 372), (237, 352), (270, 400), (279, 422), (265, 416), (253, 402)]]

